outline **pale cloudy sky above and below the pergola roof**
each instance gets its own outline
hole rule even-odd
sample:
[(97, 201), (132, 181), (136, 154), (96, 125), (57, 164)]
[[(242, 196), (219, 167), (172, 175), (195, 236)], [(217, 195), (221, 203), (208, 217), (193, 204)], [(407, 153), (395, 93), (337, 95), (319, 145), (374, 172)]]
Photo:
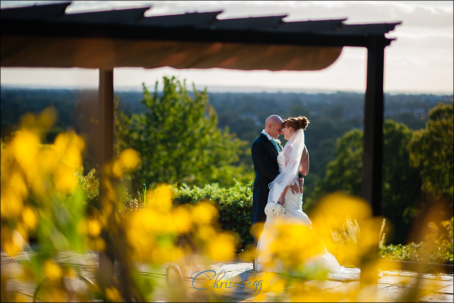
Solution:
[[(1, 1), (1, 7), (64, 1)], [(66, 13), (151, 7), (145, 16), (213, 12), (218, 19), (287, 15), (284, 21), (347, 18), (346, 24), (402, 22), (387, 38), (386, 93), (453, 94), (453, 1), (73, 1)], [(116, 68), (116, 90), (154, 89), (162, 77), (176, 76), (208, 91), (355, 91), (366, 88), (367, 51), (344, 47), (341, 56), (321, 71), (238, 71), (226, 69)], [(30, 87), (97, 87), (92, 69), (0, 68), (0, 83)]]

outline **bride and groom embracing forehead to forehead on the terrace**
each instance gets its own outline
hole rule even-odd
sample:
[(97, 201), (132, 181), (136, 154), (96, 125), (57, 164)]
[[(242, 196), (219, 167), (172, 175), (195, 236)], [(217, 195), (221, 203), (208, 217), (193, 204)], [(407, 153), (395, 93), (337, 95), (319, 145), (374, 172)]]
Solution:
[[(276, 243), (281, 240), (278, 235), (279, 227), (296, 227), (299, 231), (304, 230), (301, 229), (304, 227), (306, 231), (312, 232), (312, 222), (302, 210), (302, 176), (309, 172), (309, 153), (304, 142), (304, 130), (308, 124), (306, 117), (282, 120), (279, 116), (272, 115), (266, 119), (265, 128), (252, 143), (252, 160), (256, 174), (252, 198), (252, 224), (256, 247), (254, 269), (293, 276), (310, 276), (312, 273), (308, 271), (317, 271), (326, 273), (326, 277), (332, 280), (359, 280), (360, 270), (340, 266), (321, 240), (315, 239), (313, 234), (297, 234), (297, 238), (292, 240), (314, 239), (313, 245), (309, 246), (318, 247), (316, 253), (310, 256), (307, 251), (287, 254), (288, 257), (296, 257), (303, 266), (287, 262), (294, 260), (282, 260), (285, 259), (281, 258), (283, 255), (276, 253)], [(281, 134), (287, 140), (284, 147), (276, 140)], [(279, 217), (267, 216), (265, 207), (276, 206), (275, 203), (285, 207), (285, 214)], [(277, 251), (281, 248), (285, 247), (277, 247)], [(304, 258), (301, 258), (302, 256)]]

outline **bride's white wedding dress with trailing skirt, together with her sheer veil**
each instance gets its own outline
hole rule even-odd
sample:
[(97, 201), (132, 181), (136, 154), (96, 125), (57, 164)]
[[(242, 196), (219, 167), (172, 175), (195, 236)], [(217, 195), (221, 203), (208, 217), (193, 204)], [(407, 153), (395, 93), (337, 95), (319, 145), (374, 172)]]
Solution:
[[(296, 137), (294, 138), (295, 135), (297, 135), (298, 138)], [(289, 143), (290, 145), (287, 146), (287, 144)], [(274, 203), (274, 201), (277, 201), (277, 197), (283, 191), (283, 188), (285, 188), (285, 186), (287, 185), (293, 184), (298, 178), (298, 170), (301, 167), (301, 164), (299, 164), (299, 162), (301, 160), (303, 148), (299, 148), (295, 144), (302, 144), (304, 147), (303, 130), (302, 129), (297, 130), (291, 136), (287, 144), (281, 151), (281, 153), (279, 153), (279, 155), (277, 156), (277, 163), (279, 165), (280, 174), (275, 179), (275, 181), (272, 182), (272, 184), (270, 183), (268, 203)], [(286, 147), (287, 149), (291, 150), (290, 151), (286, 150)], [(297, 162), (295, 162), (295, 160)], [(289, 176), (289, 174), (293, 175)], [(292, 192), (292, 189), (289, 188), (285, 196), (284, 206), (286, 213), (283, 214), (280, 218), (271, 217), (266, 218), (263, 227), (263, 232), (257, 242), (257, 250), (254, 261), (255, 269), (257, 271), (287, 273), (292, 276), (301, 277), (313, 276), (313, 271), (317, 271), (318, 273), (324, 273), (325, 277), (331, 280), (339, 281), (359, 280), (361, 270), (358, 268), (350, 269), (345, 268), (344, 266), (340, 266), (336, 258), (326, 250), (326, 247), (324, 246), (321, 239), (316, 239), (313, 245), (312, 243), (310, 243), (307, 247), (307, 250), (310, 250), (313, 246), (318, 246), (320, 248), (314, 255), (308, 256), (307, 251), (304, 251), (304, 249), (302, 249), (301, 251), (294, 252), (296, 254), (301, 253), (300, 254), (301, 256), (303, 256), (303, 254), (306, 253), (306, 256), (308, 256), (308, 258), (305, 257), (303, 258), (304, 259), (303, 264), (301, 264), (300, 266), (293, 266), (293, 268), (289, 268), (288, 263), (285, 262), (286, 260), (281, 259), (279, 260), (279, 258), (276, 258), (276, 256), (273, 255), (272, 253), (273, 242), (279, 240), (278, 228), (276, 228), (276, 224), (278, 224), (277, 227), (280, 225), (281, 227), (285, 228), (292, 228), (292, 226), (297, 226), (300, 227), (299, 229), (300, 231), (301, 226), (304, 226), (306, 227), (307, 231), (312, 231), (311, 229), (312, 222), (308, 218), (308, 216), (303, 212), (302, 205), (303, 194), (301, 192), (294, 193)], [(305, 237), (306, 235), (307, 234), (302, 233), (301, 237)], [(295, 240), (298, 241), (298, 238)], [(305, 240), (307, 240), (307, 237), (305, 238)]]

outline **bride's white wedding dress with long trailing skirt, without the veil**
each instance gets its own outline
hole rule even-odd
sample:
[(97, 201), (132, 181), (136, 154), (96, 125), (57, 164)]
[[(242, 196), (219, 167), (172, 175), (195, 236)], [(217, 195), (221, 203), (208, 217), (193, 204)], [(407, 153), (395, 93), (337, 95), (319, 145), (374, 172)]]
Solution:
[[(277, 157), (277, 163), (279, 165), (279, 171), (282, 172), (282, 170), (285, 168), (285, 158), (283, 156), (283, 153), (279, 153), (279, 156)], [(301, 164), (299, 167), (301, 167)], [(295, 175), (295, 179), (297, 178), (298, 173)], [(358, 268), (350, 269), (345, 268), (344, 266), (340, 266), (336, 258), (326, 250), (326, 247), (323, 245), (321, 240), (319, 240), (320, 242), (317, 243), (320, 248), (317, 254), (312, 255), (308, 258), (303, 257), (303, 264), (297, 267), (294, 266), (293, 268), (288, 268), (288, 266), (285, 265), (285, 261), (279, 260), (279, 258), (276, 258), (276, 256), (272, 254), (271, 245), (273, 241), (277, 239), (278, 233), (276, 223), (285, 224), (285, 228), (291, 228), (292, 225), (302, 225), (307, 227), (306, 230), (312, 230), (310, 228), (312, 222), (302, 210), (303, 194), (293, 193), (292, 190), (289, 189), (287, 190), (285, 201), (286, 213), (279, 219), (267, 217), (265, 221), (263, 232), (257, 242), (255, 269), (257, 271), (286, 273), (292, 276), (301, 277), (313, 277), (313, 273), (316, 271), (318, 273), (322, 273), (324, 277), (331, 280), (359, 280), (361, 270)], [(301, 237), (304, 236), (304, 233), (301, 234)], [(295, 240), (298, 241), (298, 239)], [(314, 243), (314, 246), (317, 244)], [(311, 249), (312, 245), (308, 246), (309, 247), (307, 247), (307, 249)], [(307, 251), (308, 250), (304, 252)], [(299, 252), (297, 253), (299, 254)], [(300, 257), (301, 256), (303, 255), (300, 255)], [(301, 258), (299, 258), (299, 260), (301, 260)]]

